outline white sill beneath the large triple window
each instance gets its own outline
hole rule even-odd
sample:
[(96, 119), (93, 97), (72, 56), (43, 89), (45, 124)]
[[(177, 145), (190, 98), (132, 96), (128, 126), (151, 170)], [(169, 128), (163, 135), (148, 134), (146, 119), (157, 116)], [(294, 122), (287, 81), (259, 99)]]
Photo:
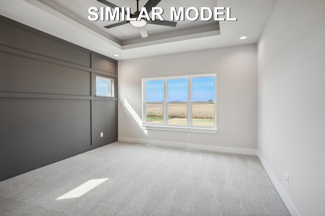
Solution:
[(202, 127), (178, 127), (178, 126), (160, 126), (160, 125), (142, 125), (142, 129), (152, 129), (158, 131), (177, 131), (177, 132), (192, 132), (192, 133), (205, 133), (216, 134), (215, 128), (202, 128)]

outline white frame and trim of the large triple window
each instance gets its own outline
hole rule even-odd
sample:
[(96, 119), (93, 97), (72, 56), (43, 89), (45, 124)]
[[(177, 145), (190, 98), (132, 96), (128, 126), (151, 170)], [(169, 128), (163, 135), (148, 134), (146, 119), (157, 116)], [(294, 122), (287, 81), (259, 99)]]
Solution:
[[(207, 101), (202, 102), (192, 102), (192, 78), (198, 77), (214, 77), (215, 81), (215, 101), (209, 103), (214, 104), (214, 127), (199, 127), (199, 126), (181, 126), (181, 125), (168, 125), (168, 89), (167, 80), (177, 79), (177, 78), (188, 78), (188, 101), (187, 102), (175, 102), (175, 103), (186, 103), (187, 104), (187, 116), (192, 116), (192, 104), (194, 103), (207, 103)], [(157, 104), (163, 104), (164, 109), (164, 125), (159, 124), (146, 124), (146, 81), (148, 80), (164, 80), (164, 102), (156, 102)], [(153, 129), (161, 131), (178, 131), (178, 132), (193, 132), (193, 133), (217, 133), (217, 82), (216, 74), (201, 74), (201, 75), (188, 75), (188, 76), (170, 76), (170, 77), (155, 77), (155, 78), (144, 78), (142, 79), (142, 129)], [(155, 103), (155, 102), (148, 102)], [(192, 125), (192, 118), (187, 117), (187, 124)]]

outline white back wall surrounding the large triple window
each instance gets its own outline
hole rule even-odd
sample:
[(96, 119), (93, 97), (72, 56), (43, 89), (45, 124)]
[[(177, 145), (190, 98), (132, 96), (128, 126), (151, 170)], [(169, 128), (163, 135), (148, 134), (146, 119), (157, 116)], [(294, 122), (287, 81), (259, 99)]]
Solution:
[[(119, 137), (256, 149), (256, 45), (118, 62)], [(141, 79), (217, 74), (217, 134), (143, 131)]]

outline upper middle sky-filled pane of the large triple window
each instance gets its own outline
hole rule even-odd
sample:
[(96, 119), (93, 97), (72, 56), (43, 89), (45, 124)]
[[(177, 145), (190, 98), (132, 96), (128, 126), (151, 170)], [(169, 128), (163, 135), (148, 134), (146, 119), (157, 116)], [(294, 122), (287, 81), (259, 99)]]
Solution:
[(168, 80), (168, 102), (188, 101), (188, 79)]

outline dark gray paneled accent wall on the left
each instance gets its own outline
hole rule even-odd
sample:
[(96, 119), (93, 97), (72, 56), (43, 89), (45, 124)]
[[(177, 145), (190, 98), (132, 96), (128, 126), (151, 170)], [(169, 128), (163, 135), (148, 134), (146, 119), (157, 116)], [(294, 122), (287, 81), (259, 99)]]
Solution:
[[(117, 141), (116, 60), (2, 16), (0, 29), (0, 181)], [(95, 96), (96, 75), (114, 98)]]

